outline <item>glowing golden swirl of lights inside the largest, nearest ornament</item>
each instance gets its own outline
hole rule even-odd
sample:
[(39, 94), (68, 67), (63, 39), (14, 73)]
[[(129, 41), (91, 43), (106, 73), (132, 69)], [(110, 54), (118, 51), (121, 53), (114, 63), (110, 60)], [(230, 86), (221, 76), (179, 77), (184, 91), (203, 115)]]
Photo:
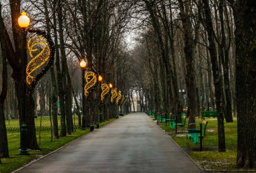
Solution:
[(27, 46), (30, 57), (32, 58), (26, 67), (26, 81), (30, 85), (36, 78), (36, 75), (33, 75), (32, 73), (43, 64), (49, 62), (51, 50), (46, 39), (42, 36), (34, 36), (30, 38)]

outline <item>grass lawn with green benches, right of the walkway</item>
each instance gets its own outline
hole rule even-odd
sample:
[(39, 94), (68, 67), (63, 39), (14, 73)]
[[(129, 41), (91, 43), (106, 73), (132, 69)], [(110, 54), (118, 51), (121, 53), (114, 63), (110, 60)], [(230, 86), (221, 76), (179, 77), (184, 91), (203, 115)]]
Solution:
[[(188, 121), (188, 120), (187, 120)], [(175, 133), (175, 130), (170, 129), (168, 123), (160, 123), (160, 127), (166, 131), (174, 141), (176, 141), (181, 148), (197, 162), (203, 170), (222, 170), (222, 171), (238, 171), (236, 167), (236, 150), (237, 150), (237, 121), (234, 117), (233, 123), (224, 123), (225, 127), (225, 139), (226, 139), (226, 152), (218, 152), (218, 128), (217, 119), (211, 118), (207, 124), (205, 132), (203, 152), (195, 151), (199, 148), (197, 146), (187, 147), (187, 123), (185, 132), (181, 132), (181, 128), (178, 127), (179, 133)], [(199, 125), (197, 126), (199, 128)], [(193, 144), (192, 144), (193, 145)], [(212, 148), (212, 150), (210, 150)]]

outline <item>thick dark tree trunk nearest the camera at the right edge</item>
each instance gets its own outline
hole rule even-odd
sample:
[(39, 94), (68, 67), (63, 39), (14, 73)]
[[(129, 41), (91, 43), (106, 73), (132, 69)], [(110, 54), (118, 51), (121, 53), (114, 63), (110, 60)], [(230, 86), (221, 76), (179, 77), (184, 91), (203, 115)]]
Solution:
[(256, 168), (256, 4), (238, 0), (236, 25), (237, 158), (243, 168)]

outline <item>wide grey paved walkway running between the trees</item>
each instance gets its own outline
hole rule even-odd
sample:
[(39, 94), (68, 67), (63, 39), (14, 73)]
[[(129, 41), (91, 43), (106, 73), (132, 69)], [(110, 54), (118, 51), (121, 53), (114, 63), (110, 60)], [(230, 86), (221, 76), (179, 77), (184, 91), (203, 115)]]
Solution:
[(18, 172), (201, 172), (145, 113), (92, 131)]

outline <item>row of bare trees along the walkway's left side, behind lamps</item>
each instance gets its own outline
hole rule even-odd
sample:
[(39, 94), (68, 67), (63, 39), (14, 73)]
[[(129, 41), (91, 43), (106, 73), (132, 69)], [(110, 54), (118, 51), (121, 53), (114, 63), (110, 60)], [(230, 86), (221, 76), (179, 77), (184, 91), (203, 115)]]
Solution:
[[(7, 98), (11, 98), (11, 95), (15, 93), (14, 100), (18, 103), (16, 105), (18, 115), (22, 115), (21, 62), (24, 56), (22, 52), (22, 30), (17, 21), (20, 11), (28, 13), (32, 21), (30, 27), (45, 30), (53, 38), (56, 48), (54, 66), (40, 80), (34, 95), (27, 94), (27, 107), (29, 108), (26, 115), (29, 137), (28, 148), (39, 150), (34, 125), (36, 98), (40, 99), (41, 114), (46, 113), (45, 109), (51, 111), (55, 139), (65, 137), (73, 132), (71, 111), (73, 100), (77, 115), (79, 115), (79, 126), (81, 126), (77, 95), (82, 95), (82, 75), (80, 70), (77, 69), (79, 69), (78, 62), (82, 58), (86, 58), (88, 68), (102, 75), (105, 82), (111, 82), (123, 95), (127, 93), (126, 78), (129, 67), (126, 63), (129, 56), (123, 40), (129, 22), (129, 15), (133, 10), (132, 7), (133, 3), (129, 1), (1, 1), (1, 158), (9, 157), (4, 111), (9, 110), (9, 107), (15, 108), (15, 105), (6, 103), (5, 107), (7, 109), (5, 109), (4, 101), (7, 93)], [(13, 81), (13, 85), (9, 84), (7, 80)], [(7, 83), (9, 86), (7, 86)], [(119, 113), (119, 107), (110, 104), (109, 99), (106, 99), (104, 103), (100, 102), (100, 93), (100, 84), (98, 84), (86, 100), (87, 126), (98, 123), (100, 113), (103, 113), (104, 120), (116, 117)], [(60, 105), (61, 131), (58, 131), (57, 128), (57, 103)], [(20, 123), (22, 123), (22, 117), (19, 116), (19, 118)]]

